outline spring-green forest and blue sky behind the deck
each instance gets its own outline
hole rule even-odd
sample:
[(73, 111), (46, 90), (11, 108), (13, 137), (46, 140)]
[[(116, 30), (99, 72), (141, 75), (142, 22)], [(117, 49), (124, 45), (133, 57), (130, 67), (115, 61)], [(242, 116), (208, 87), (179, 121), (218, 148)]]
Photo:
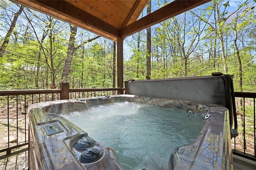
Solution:
[[(141, 16), (166, 3), (151, 0)], [(212, 0), (128, 36), (124, 81), (222, 72), (234, 75), (235, 91), (256, 92), (255, 5)], [(0, 0), (1, 90), (59, 88), (63, 80), (70, 88), (116, 87), (116, 70), (116, 42)]]

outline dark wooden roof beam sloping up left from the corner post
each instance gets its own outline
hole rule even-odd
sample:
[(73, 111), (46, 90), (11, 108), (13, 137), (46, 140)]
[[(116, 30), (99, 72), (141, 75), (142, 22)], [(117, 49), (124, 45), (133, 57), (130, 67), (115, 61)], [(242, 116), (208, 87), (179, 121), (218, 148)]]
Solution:
[[(35, 3), (44, 8), (57, 12), (71, 20), (76, 20), (82, 24), (86, 24), (91, 28), (101, 30), (102, 32), (109, 34), (114, 37), (119, 37), (118, 28), (100, 20), (99, 18), (93, 16), (92, 14), (81, 10), (80, 8), (64, 1), (64, 0), (34, 0), (30, 3)], [(45, 13), (45, 12), (44, 12)], [(56, 17), (56, 16), (54, 16)], [(58, 18), (58, 17), (56, 17)]]

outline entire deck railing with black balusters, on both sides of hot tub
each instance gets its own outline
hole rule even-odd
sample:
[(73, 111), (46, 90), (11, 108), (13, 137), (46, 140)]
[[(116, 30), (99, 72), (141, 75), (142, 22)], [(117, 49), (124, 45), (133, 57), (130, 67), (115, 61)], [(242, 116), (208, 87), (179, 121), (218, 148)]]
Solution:
[[(69, 89), (68, 98), (88, 98), (120, 94), (124, 88)], [(28, 144), (27, 108), (37, 102), (60, 100), (62, 89), (0, 91), (0, 152)], [(63, 96), (63, 95), (62, 95)], [(256, 160), (256, 93), (235, 92), (239, 135), (232, 139), (233, 153)]]

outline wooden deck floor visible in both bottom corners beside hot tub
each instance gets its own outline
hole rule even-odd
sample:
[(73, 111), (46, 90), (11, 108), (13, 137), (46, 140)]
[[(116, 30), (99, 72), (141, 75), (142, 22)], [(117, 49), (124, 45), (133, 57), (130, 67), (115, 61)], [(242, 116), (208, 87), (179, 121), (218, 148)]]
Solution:
[[(0, 154), (0, 170), (28, 170), (28, 146), (13, 150), (11, 154)], [(256, 170), (256, 162), (233, 155), (234, 170)]]

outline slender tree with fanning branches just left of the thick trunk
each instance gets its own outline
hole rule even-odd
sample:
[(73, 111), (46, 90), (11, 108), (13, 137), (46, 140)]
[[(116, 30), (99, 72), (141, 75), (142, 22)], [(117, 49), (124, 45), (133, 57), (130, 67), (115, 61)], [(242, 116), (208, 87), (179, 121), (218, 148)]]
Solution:
[[(50, 86), (50, 88), (56, 88), (56, 80), (60, 80), (58, 76), (62, 70), (63, 56), (66, 51), (65, 45), (67, 41), (64, 37), (66, 35), (66, 24), (46, 15), (37, 18), (39, 22), (35, 22), (35, 18), (31, 18), (28, 15), (26, 15), (26, 18), (32, 26), (33, 36), (37, 42), (36, 45), (41, 49), (41, 69), (44, 70), (44, 76), (42, 76), (44, 81), (43, 86), (46, 85)], [(43, 32), (42, 35), (38, 32), (40, 29)], [(42, 36), (41, 39), (40, 36)], [(42, 41), (42, 39), (45, 39), (45, 41)]]

